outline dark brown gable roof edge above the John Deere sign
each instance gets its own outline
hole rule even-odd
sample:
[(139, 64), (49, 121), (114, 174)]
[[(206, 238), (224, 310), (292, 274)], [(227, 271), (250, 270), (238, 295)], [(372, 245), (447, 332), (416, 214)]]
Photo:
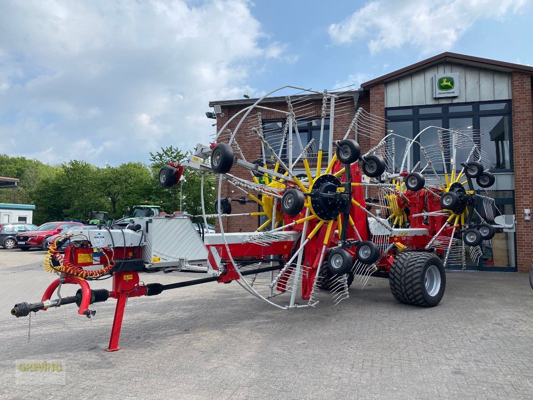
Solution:
[(361, 84), (362, 89), (368, 89), (368, 87), (376, 85), (378, 83), (386, 83), (395, 81), (403, 76), (414, 74), (423, 69), (432, 67), (442, 62), (453, 62), (455, 64), (466, 65), (475, 68), (484, 68), (495, 71), (501, 71), (505, 73), (511, 73), (513, 71), (525, 72), (533, 75), (533, 67), (527, 65), (514, 64), (512, 62), (491, 60), (488, 58), (473, 57), (472, 55), (458, 54), (445, 52), (435, 55), (426, 60), (422, 60), (414, 63), (413, 65), (398, 69), (389, 74), (372, 79), (372, 81)]

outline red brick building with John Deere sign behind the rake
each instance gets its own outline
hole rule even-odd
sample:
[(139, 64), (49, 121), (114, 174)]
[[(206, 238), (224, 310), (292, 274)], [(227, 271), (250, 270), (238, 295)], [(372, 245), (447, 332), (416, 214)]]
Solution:
[[(335, 116), (332, 132), (328, 127), (327, 144), (324, 143), (324, 146), (344, 137), (359, 107), (385, 118), (387, 130), (408, 138), (414, 138), (428, 126), (467, 126), (481, 131), (486, 138), (480, 143), (482, 150), (497, 160), (490, 166), (496, 176), (490, 196), (495, 198), (498, 210), (505, 215), (502, 220), (508, 227), (497, 228), (489, 256), (480, 258), (478, 265), (468, 268), (529, 271), (533, 262), (533, 246), (529, 242), (529, 238), (533, 237), (533, 222), (530, 220), (533, 169), (529, 164), (533, 159), (532, 75), (533, 67), (529, 66), (449, 52), (435, 55), (365, 82), (359, 90), (342, 93), (337, 101), (343, 103), (343, 113)], [(448, 87), (440, 85), (441, 79)], [(222, 111), (217, 114), (217, 129), (220, 130), (229, 118), (254, 102), (254, 99), (211, 101), (209, 106), (220, 106)], [(284, 97), (269, 98), (268, 103), (271, 108), (287, 110)], [(302, 121), (300, 132), (314, 137), (313, 121), (320, 117), (322, 97), (317, 94), (306, 103), (306, 107), (309, 118)], [(263, 126), (279, 124), (284, 118), (286, 116), (281, 112), (261, 110)], [(230, 123), (231, 131), (235, 130), (238, 121), (239, 118), (236, 118)], [(383, 135), (385, 133), (384, 130)], [(246, 159), (261, 156), (263, 150), (259, 140), (239, 136), (237, 139)], [(362, 151), (374, 144), (365, 137), (358, 141)], [(324, 149), (327, 150), (327, 147)], [(250, 172), (236, 169), (232, 173), (249, 178)], [(222, 187), (223, 197), (236, 198), (240, 195), (235, 188)], [(251, 211), (257, 211), (256, 204), (242, 205), (234, 212)], [(514, 215), (515, 228), (512, 228)], [(257, 228), (259, 220), (233, 218), (225, 223), (226, 231), (251, 231)]]

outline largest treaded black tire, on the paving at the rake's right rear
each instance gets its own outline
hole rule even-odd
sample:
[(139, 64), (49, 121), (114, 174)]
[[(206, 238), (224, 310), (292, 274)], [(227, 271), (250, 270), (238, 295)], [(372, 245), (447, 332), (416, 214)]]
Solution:
[[(434, 295), (427, 291), (426, 277), (428, 270), (438, 270), (440, 285)], [(442, 300), (446, 290), (446, 272), (442, 261), (433, 253), (404, 252), (399, 254), (392, 263), (389, 274), (389, 286), (393, 297), (401, 303), (434, 307)]]

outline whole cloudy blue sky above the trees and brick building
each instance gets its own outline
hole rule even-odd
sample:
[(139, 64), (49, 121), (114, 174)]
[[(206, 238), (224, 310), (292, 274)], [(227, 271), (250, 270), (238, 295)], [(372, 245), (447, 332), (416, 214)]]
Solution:
[(148, 162), (209, 100), (359, 84), (443, 51), (533, 65), (528, 0), (0, 0), (0, 153)]

